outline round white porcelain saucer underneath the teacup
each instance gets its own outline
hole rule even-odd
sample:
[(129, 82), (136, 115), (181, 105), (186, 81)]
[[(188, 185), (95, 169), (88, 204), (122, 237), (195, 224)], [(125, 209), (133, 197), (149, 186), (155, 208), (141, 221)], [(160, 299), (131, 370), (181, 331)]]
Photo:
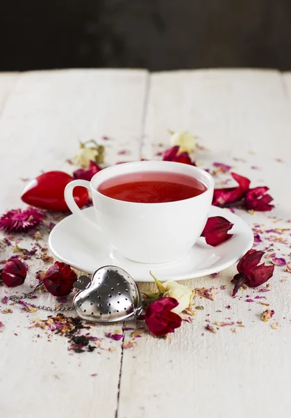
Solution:
[[(95, 219), (94, 208), (84, 211)], [(206, 245), (204, 238), (200, 238), (188, 254), (170, 263), (143, 264), (128, 260), (108, 244), (106, 237), (92, 231), (89, 224), (75, 215), (69, 215), (53, 228), (49, 248), (59, 261), (90, 274), (103, 265), (117, 265), (136, 281), (153, 281), (149, 270), (160, 281), (193, 279), (228, 268), (253, 245), (253, 232), (240, 217), (215, 206), (211, 207), (211, 216), (223, 216), (232, 222), (233, 237), (217, 247)]]

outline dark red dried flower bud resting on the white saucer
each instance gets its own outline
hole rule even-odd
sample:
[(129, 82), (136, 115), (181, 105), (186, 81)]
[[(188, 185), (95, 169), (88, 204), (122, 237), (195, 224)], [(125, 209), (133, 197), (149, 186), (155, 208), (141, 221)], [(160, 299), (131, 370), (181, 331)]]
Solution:
[(213, 216), (207, 219), (201, 237), (205, 238), (208, 245), (216, 247), (233, 236), (232, 234), (227, 233), (232, 227), (233, 224), (224, 217)]

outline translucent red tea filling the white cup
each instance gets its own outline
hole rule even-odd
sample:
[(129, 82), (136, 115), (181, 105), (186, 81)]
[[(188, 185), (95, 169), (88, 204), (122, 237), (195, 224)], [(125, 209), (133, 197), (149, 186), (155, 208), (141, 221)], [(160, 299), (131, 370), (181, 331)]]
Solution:
[(126, 173), (105, 180), (98, 187), (101, 194), (119, 201), (165, 203), (190, 199), (207, 187), (197, 178), (167, 171)]

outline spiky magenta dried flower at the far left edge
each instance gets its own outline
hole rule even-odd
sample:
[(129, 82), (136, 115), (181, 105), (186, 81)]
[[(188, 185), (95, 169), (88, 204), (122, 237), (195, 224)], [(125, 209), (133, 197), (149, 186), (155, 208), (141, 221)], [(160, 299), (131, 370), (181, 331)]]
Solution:
[(0, 218), (0, 229), (6, 232), (26, 232), (42, 222), (44, 215), (39, 210), (9, 210)]

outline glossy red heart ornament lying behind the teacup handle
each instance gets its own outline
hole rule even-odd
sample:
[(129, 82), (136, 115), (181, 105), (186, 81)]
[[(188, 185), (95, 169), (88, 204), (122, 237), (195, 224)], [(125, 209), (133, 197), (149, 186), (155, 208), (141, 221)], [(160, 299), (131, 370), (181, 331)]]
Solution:
[[(28, 205), (47, 210), (66, 212), (65, 187), (74, 180), (63, 171), (48, 171), (31, 180), (22, 192), (22, 201)], [(88, 201), (88, 191), (84, 187), (75, 187), (73, 196), (79, 208)]]

